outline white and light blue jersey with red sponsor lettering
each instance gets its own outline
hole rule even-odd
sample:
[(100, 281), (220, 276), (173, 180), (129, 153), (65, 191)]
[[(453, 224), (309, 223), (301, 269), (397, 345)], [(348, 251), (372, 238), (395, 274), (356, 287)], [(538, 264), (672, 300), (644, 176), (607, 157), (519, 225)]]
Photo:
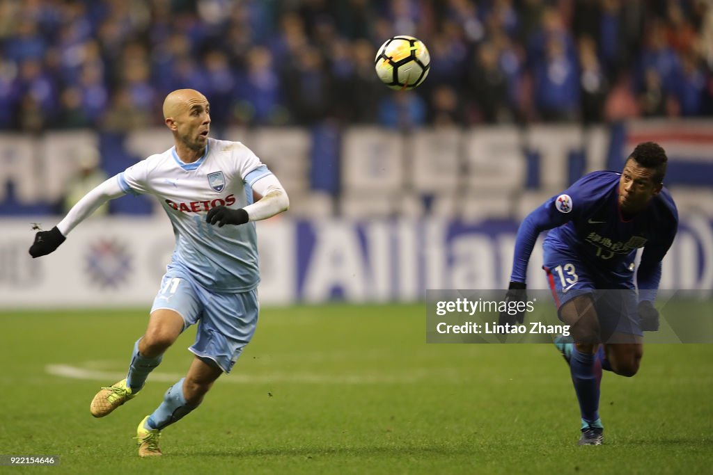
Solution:
[(171, 147), (129, 167), (118, 180), (124, 192), (158, 197), (173, 224), (173, 264), (212, 291), (245, 292), (260, 283), (255, 223), (221, 228), (207, 224), (205, 215), (220, 205), (251, 204), (252, 184), (267, 174), (242, 143), (208, 139), (197, 162), (181, 162)]

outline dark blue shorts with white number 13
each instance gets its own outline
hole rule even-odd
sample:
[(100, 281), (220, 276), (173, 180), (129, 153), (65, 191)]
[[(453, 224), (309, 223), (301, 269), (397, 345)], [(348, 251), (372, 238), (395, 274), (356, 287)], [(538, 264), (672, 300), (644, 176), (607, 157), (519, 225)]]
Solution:
[(543, 251), (543, 269), (558, 310), (576, 296), (589, 295), (597, 310), (602, 341), (615, 332), (643, 335), (633, 274), (627, 280), (607, 278), (567, 249), (546, 241)]

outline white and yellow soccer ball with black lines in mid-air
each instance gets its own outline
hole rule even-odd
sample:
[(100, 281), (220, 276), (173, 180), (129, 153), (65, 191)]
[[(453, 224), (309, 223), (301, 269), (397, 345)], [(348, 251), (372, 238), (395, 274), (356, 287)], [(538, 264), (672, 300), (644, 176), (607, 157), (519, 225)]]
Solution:
[(374, 59), (374, 68), (384, 84), (391, 89), (418, 87), (429, 75), (431, 56), (421, 40), (399, 35), (381, 45)]

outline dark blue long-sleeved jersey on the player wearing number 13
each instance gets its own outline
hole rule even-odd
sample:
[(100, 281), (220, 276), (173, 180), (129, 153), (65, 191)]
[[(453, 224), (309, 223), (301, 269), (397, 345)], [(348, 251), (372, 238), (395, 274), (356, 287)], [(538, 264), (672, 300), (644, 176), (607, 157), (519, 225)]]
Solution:
[(664, 188), (642, 212), (623, 219), (620, 177), (617, 172), (587, 174), (530, 213), (518, 229), (511, 280), (525, 282), (538, 234), (551, 229), (545, 239), (548, 244), (575, 254), (609, 281), (631, 279), (636, 250), (644, 248), (637, 284), (640, 298), (652, 300), (661, 278), (661, 261), (676, 235), (678, 212)]

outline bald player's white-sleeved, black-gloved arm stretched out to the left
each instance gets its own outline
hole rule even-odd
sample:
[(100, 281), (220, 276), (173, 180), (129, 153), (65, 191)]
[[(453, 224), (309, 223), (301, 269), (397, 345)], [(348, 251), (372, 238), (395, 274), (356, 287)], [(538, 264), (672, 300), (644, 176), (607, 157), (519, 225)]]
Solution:
[(35, 234), (35, 241), (30, 246), (30, 255), (36, 258), (56, 251), (77, 224), (91, 216), (102, 204), (123, 195), (124, 191), (121, 189), (116, 176), (98, 185), (98, 187), (84, 195), (57, 226), (54, 226), (49, 231), (39, 231)]

